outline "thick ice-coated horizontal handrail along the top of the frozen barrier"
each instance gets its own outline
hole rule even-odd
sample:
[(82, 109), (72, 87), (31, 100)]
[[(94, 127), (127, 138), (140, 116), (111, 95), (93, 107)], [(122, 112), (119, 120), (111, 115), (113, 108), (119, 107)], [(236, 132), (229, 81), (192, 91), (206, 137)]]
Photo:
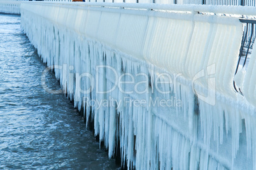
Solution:
[(129, 8), (133, 10), (166, 10), (166, 11), (190, 11), (201, 13), (221, 13), (230, 15), (256, 16), (254, 6), (211, 6), (195, 4), (142, 4), (142, 3), (87, 3), (87, 2), (59, 2), (59, 1), (22, 1), (22, 3), (57, 4), (62, 6), (99, 7), (99, 8)]

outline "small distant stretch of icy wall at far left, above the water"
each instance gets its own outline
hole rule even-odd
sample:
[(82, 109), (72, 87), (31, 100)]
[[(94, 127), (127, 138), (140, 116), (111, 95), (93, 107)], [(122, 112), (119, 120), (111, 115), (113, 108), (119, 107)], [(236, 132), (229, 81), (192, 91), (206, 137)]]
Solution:
[(20, 14), (21, 1), (0, 0), (0, 13)]

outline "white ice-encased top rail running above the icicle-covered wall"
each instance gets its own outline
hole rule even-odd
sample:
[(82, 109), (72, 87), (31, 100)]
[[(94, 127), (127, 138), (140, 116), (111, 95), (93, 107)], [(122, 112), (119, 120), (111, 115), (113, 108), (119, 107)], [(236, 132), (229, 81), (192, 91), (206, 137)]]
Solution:
[[(43, 3), (43, 2), (33, 2), (33, 3)], [(88, 7), (97, 8), (111, 8), (115, 10), (116, 8), (123, 9), (133, 9), (139, 11), (154, 10), (162, 12), (179, 12), (179, 13), (202, 13), (203, 15), (218, 15), (236, 18), (255, 18), (255, 7), (253, 6), (204, 6), (204, 5), (173, 5), (173, 4), (134, 4), (134, 3), (83, 3), (83, 2), (47, 2), (43, 3), (46, 6), (70, 6), (76, 7), (77, 9), (85, 9)]]

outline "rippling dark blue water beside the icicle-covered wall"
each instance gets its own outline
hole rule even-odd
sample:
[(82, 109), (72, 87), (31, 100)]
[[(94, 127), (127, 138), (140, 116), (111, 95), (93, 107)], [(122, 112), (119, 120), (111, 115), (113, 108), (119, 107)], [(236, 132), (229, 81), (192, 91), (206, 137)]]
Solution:
[(20, 17), (0, 14), (0, 169), (117, 169), (68, 99), (43, 90), (45, 67)]

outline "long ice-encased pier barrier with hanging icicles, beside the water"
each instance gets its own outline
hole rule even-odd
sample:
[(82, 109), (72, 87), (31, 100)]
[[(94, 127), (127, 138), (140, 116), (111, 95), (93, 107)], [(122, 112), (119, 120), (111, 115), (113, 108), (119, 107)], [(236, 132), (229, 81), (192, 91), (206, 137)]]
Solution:
[(222, 16), (254, 8), (38, 2), (21, 10), (25, 34), (92, 118), (109, 157), (119, 147), (128, 169), (256, 169), (255, 49), (241, 96), (232, 82), (242, 24)]

